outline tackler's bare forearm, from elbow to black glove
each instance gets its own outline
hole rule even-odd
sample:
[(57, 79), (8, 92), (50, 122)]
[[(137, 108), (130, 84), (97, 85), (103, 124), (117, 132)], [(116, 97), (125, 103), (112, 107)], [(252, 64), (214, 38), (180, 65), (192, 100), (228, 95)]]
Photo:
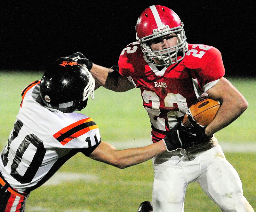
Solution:
[(117, 150), (114, 160), (112, 161), (112, 165), (120, 169), (124, 169), (126, 167), (148, 161), (149, 159), (160, 153), (164, 153), (165, 151), (166, 148), (162, 140), (144, 147)]

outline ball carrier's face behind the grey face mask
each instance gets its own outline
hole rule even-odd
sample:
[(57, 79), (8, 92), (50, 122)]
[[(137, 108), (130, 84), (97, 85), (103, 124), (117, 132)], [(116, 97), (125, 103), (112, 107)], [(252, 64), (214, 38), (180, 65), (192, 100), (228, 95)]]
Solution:
[[(172, 46), (176, 46), (177, 44), (178, 44), (177, 36), (176, 36), (176, 34), (172, 33), (170, 35), (167, 35), (164, 37), (159, 37), (159, 38), (152, 40), (151, 43), (149, 43), (149, 46), (152, 51), (159, 51), (159, 50), (170, 48)], [(170, 50), (174, 50), (174, 48), (170, 49)], [(165, 53), (165, 52), (163, 52), (163, 53)], [(163, 61), (161, 61), (157, 58), (153, 58), (153, 60), (158, 65), (164, 64)]]

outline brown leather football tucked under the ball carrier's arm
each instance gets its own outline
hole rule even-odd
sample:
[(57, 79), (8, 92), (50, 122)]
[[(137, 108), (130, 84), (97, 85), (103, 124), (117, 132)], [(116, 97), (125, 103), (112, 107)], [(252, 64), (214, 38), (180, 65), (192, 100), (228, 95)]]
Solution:
[(220, 108), (220, 102), (212, 99), (209, 96), (205, 96), (196, 100), (196, 102), (191, 105), (186, 114), (184, 115), (182, 123), (186, 127), (191, 127), (188, 122), (188, 113), (190, 113), (195, 121), (204, 127), (208, 126), (214, 117), (216, 116)]

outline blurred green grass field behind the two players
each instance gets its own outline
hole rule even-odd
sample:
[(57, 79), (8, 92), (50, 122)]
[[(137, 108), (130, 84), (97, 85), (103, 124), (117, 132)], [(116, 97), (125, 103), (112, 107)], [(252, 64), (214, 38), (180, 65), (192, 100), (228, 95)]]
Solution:
[[(19, 111), (21, 91), (32, 81), (40, 80), (42, 72), (0, 72), (0, 147), (4, 147)], [(249, 102), (249, 108), (235, 122), (216, 133), (221, 143), (251, 144), (256, 136), (256, 79), (228, 78)], [(104, 88), (95, 91), (82, 111), (91, 116), (100, 128), (103, 141), (130, 142), (149, 140), (150, 122), (142, 106), (139, 89), (114, 93)], [(237, 170), (244, 196), (256, 208), (256, 153), (226, 152), (228, 161)], [(42, 186), (31, 192), (27, 201), (30, 211), (137, 211), (140, 202), (151, 200), (153, 169), (151, 161), (117, 169), (77, 154), (56, 173), (86, 174), (91, 178), (65, 181), (60, 185)], [(187, 189), (185, 211), (220, 211), (197, 184)]]

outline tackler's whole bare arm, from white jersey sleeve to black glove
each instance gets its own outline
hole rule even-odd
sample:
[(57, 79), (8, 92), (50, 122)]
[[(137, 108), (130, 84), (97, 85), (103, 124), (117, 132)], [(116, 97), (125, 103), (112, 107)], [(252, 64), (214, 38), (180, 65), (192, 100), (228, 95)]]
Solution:
[(116, 150), (114, 146), (102, 141), (89, 157), (96, 161), (124, 169), (147, 161), (165, 151), (166, 147), (163, 140), (148, 146), (124, 150)]

